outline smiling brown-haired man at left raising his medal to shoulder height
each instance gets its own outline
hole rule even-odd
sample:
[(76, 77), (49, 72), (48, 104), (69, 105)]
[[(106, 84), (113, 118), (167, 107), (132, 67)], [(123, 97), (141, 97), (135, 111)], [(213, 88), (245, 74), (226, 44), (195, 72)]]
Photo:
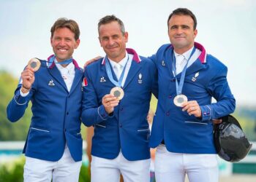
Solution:
[(33, 60), (24, 69), (7, 117), (17, 122), (31, 100), (24, 181), (78, 181), (83, 70), (72, 54), (80, 43), (80, 31), (74, 20), (66, 18), (57, 20), (50, 31), (54, 55)]

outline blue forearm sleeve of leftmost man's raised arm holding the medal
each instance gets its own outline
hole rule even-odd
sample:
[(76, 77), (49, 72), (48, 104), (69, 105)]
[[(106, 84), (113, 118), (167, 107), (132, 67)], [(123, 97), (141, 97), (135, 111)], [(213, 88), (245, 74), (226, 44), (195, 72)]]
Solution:
[(7, 119), (10, 122), (17, 122), (26, 111), (26, 108), (29, 105), (29, 100), (34, 93), (34, 89), (29, 91), (25, 96), (20, 94), (21, 83), (18, 84), (18, 87), (15, 90), (15, 95), (7, 106)]

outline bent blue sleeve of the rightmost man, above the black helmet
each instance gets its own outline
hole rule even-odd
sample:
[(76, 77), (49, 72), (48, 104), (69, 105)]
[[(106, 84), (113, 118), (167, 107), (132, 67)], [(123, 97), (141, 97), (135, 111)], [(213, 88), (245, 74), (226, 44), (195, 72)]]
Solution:
[(235, 111), (236, 100), (227, 83), (226, 66), (217, 71), (217, 74), (209, 82), (207, 91), (217, 100), (217, 103), (200, 106), (203, 121), (218, 119)]

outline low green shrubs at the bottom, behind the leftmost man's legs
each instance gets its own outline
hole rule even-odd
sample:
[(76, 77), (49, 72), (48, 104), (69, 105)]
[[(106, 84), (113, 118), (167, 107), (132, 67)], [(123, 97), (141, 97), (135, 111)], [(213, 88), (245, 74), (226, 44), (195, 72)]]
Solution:
[[(15, 162), (0, 165), (0, 182), (22, 182), (25, 157), (20, 157)], [(79, 182), (90, 182), (89, 168), (82, 165), (80, 168)]]

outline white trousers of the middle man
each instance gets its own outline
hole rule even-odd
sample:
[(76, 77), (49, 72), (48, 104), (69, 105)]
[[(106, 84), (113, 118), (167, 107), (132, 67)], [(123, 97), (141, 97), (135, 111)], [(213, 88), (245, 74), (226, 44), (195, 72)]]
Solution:
[(123, 154), (116, 159), (91, 156), (91, 182), (119, 182), (120, 173), (125, 182), (150, 181), (150, 159), (129, 161)]

